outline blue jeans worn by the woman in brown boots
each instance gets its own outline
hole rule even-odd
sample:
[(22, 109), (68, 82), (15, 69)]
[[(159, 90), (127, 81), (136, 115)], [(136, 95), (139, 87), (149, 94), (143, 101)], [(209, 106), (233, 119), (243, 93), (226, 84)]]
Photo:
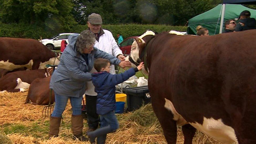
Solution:
[(55, 106), (54, 106), (54, 110), (51, 114), (51, 116), (54, 117), (61, 117), (63, 111), (66, 108), (68, 99), (70, 99), (70, 103), (72, 106), (72, 115), (81, 115), (82, 111), (81, 111), (81, 104), (82, 104), (82, 98), (83, 96), (76, 98), (76, 97), (66, 97), (66, 96), (62, 96), (62, 95), (58, 95), (57, 93), (55, 93)]

